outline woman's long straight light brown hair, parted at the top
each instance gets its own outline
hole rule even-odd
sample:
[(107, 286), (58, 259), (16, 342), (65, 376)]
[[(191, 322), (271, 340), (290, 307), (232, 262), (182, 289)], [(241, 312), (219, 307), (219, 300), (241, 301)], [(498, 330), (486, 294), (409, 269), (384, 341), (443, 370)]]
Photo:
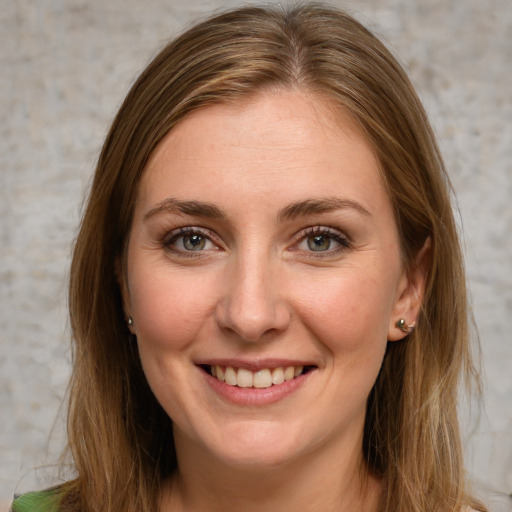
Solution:
[(417, 327), (388, 343), (368, 398), (363, 453), (384, 482), (380, 510), (485, 510), (468, 495), (462, 463), (458, 386), (476, 372), (450, 184), (432, 130), (373, 34), (339, 10), (302, 4), (239, 8), (192, 27), (144, 70), (112, 124), (71, 266), (68, 437), (77, 477), (60, 490), (63, 511), (158, 509), (160, 485), (176, 468), (172, 422), (147, 384), (119, 287), (138, 183), (187, 115), (276, 88), (321, 95), (358, 120), (380, 161), (405, 268), (430, 237)]

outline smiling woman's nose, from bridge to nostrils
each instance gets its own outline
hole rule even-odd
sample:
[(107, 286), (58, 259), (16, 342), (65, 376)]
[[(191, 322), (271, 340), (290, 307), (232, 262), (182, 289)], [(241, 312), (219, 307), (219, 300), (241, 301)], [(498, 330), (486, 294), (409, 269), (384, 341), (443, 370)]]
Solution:
[(257, 342), (287, 329), (291, 312), (279, 286), (277, 266), (262, 255), (234, 262), (227, 269), (216, 307), (221, 330)]

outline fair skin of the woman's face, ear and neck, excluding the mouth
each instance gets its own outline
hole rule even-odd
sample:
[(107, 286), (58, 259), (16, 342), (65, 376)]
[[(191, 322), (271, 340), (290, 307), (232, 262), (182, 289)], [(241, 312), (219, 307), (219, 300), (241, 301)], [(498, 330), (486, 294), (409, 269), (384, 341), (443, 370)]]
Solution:
[[(174, 422), (161, 509), (376, 510), (366, 400), (405, 336), (396, 321), (417, 316), (424, 259), (404, 271), (374, 152), (324, 98), (267, 91), (175, 127), (143, 174), (122, 283)], [(227, 359), (313, 369), (273, 403), (240, 404), (198, 366)]]

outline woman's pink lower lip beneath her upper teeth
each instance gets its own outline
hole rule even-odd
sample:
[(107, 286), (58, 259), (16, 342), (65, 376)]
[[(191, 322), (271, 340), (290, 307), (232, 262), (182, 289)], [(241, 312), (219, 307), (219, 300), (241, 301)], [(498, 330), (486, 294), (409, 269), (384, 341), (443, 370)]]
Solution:
[(240, 388), (238, 386), (230, 386), (212, 377), (203, 369), (201, 369), (201, 372), (210, 388), (229, 402), (237, 405), (268, 405), (279, 402), (293, 394), (306, 383), (315, 370), (303, 373), (281, 384), (272, 385), (269, 388)]

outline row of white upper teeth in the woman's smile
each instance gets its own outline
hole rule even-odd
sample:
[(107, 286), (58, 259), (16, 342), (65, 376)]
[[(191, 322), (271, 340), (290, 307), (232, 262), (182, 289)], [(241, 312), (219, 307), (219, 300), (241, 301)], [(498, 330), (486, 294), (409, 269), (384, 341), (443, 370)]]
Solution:
[(304, 366), (286, 366), (264, 368), (253, 372), (245, 368), (232, 366), (211, 366), (211, 373), (221, 382), (240, 388), (269, 388), (274, 384), (282, 384), (302, 374)]

